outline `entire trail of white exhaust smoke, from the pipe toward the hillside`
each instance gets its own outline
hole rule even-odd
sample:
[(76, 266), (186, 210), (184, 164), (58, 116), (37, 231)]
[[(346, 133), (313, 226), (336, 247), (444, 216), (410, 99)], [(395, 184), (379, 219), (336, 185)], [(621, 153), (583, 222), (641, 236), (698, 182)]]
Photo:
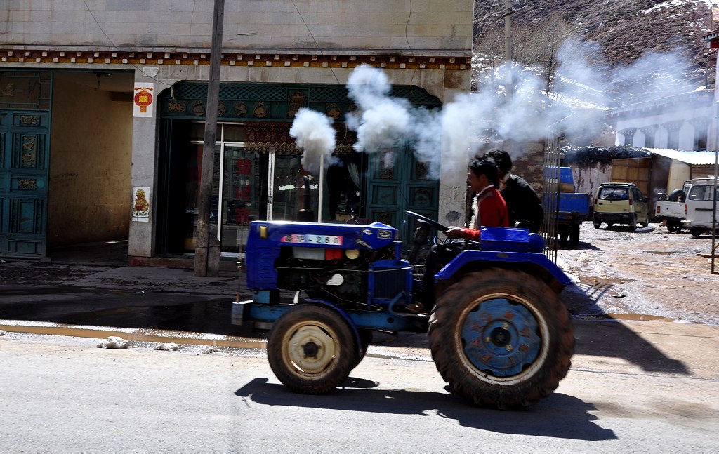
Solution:
[[(615, 68), (603, 64), (598, 55), (596, 44), (568, 40), (557, 54), (559, 67), (549, 93), (541, 71), (512, 65), (496, 69), (490, 83), (480, 85), (474, 93), (455, 96), (441, 111), (416, 108), (406, 99), (391, 97), (390, 80), (383, 70), (359, 65), (347, 83), (349, 97), (359, 111), (347, 115), (347, 126), (357, 131), (356, 148), (384, 153), (385, 165), (394, 159), (389, 147), (411, 144), (416, 159), (425, 163), (429, 177), (436, 179), (440, 165), (442, 172), (466, 172), (470, 159), (489, 144), (541, 141), (549, 134), (598, 134), (603, 111), (615, 103), (612, 97), (628, 103), (692, 90), (680, 76), (690, 62), (677, 52), (650, 52), (633, 65)], [(510, 92), (504, 85), (508, 70), (513, 81)], [(638, 95), (640, 88), (651, 97)], [(330, 156), (334, 130), (324, 115), (306, 115), (298, 114), (290, 134), (298, 134), (298, 145), (305, 149), (303, 166), (311, 171), (319, 169), (319, 156)], [(516, 159), (522, 150), (510, 152)], [(329, 159), (325, 162), (329, 165)]]

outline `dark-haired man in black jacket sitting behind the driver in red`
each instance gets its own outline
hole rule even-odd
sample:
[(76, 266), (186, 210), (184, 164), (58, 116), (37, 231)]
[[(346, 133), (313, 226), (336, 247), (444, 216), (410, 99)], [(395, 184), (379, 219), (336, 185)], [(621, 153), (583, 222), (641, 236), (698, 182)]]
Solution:
[(493, 149), (487, 152), (487, 157), (494, 159), (499, 168), (500, 194), (507, 203), (509, 226), (537, 233), (544, 221), (544, 209), (536, 192), (522, 177), (510, 173), (512, 158), (508, 152)]

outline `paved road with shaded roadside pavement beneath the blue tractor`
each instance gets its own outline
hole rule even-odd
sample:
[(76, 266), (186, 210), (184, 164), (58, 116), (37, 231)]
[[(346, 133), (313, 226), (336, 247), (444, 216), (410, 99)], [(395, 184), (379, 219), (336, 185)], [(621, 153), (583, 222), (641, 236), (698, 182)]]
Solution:
[[(421, 334), (371, 346), (331, 396), (290, 394), (262, 332), (229, 325), (237, 274), (14, 263), (0, 277), (0, 453), (719, 450), (714, 326), (575, 320), (557, 392), (497, 412), (446, 392)], [(96, 348), (111, 334), (132, 348)]]

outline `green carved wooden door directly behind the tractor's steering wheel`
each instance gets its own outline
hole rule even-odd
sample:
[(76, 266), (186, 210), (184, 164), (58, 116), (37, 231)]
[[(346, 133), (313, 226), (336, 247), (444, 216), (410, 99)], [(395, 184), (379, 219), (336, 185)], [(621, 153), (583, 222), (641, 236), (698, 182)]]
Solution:
[(370, 154), (367, 172), (367, 217), (398, 229), (407, 252), (416, 227), (411, 210), (437, 218), (439, 183), (427, 178), (428, 169), (408, 146), (391, 147)]

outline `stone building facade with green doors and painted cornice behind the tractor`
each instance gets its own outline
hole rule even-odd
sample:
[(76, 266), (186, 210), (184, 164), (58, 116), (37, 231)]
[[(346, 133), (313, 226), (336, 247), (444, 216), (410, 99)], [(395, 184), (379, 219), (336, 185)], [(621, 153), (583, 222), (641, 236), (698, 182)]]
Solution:
[[(213, 7), (0, 5), (0, 256), (118, 238), (134, 264), (192, 253)], [(405, 209), (463, 213), (464, 175), (429, 179), (408, 144), (357, 152), (347, 83), (369, 65), (391, 96), (441, 108), (470, 91), (472, 22), (472, 0), (227, 1), (211, 200), (222, 251), (241, 254), (249, 221), (296, 216), (305, 191), (323, 221), (372, 218), (405, 238)], [(302, 167), (299, 108), (334, 119), (326, 174)]]

